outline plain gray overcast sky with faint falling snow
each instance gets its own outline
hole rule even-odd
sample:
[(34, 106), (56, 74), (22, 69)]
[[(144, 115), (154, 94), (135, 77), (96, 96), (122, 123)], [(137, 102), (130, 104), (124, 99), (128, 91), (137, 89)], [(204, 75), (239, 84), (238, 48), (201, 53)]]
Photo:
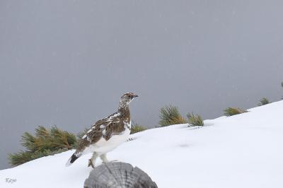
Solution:
[(283, 95), (282, 1), (0, 1), (0, 168), (38, 125), (77, 133), (140, 95), (219, 117)]

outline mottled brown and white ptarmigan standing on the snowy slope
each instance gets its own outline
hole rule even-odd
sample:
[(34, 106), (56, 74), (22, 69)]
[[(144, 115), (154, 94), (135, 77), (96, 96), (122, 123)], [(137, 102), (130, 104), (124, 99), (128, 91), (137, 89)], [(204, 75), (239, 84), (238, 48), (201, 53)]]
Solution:
[(131, 131), (129, 103), (137, 96), (134, 93), (122, 95), (118, 111), (93, 124), (91, 129), (79, 140), (76, 152), (71, 155), (66, 166), (71, 165), (81, 155), (87, 153), (93, 153), (88, 160), (88, 166), (91, 165), (94, 168), (98, 157), (103, 160), (103, 163), (108, 163), (106, 153), (120, 146), (129, 136)]

